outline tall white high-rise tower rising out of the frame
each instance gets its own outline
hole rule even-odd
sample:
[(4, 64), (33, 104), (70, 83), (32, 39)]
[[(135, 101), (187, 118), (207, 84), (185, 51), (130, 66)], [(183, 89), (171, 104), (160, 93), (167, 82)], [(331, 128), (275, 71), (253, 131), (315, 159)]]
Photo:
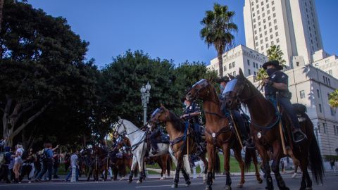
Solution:
[(280, 45), (289, 66), (294, 56), (312, 63), (313, 53), (323, 49), (313, 0), (246, 0), (243, 12), (251, 49), (266, 55), (271, 45)]

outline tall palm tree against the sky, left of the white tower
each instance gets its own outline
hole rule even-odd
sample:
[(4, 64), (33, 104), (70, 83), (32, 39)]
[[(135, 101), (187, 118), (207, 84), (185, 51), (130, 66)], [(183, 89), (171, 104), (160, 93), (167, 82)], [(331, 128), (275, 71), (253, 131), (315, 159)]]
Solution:
[(206, 11), (206, 17), (201, 20), (201, 39), (210, 46), (215, 46), (218, 57), (218, 68), (220, 76), (223, 76), (223, 58), (225, 50), (234, 46), (234, 32), (237, 32), (237, 25), (232, 23), (234, 11), (228, 11), (227, 6), (214, 4), (212, 11)]

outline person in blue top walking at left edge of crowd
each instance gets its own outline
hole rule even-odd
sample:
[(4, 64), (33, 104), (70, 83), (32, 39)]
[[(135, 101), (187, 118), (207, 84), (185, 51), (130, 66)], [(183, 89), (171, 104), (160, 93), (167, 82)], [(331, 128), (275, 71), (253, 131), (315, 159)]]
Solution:
[(37, 175), (37, 179), (35, 179), (35, 182), (41, 182), (41, 178), (44, 176), (44, 174), (48, 170), (48, 177), (49, 181), (51, 181), (51, 172), (53, 170), (53, 150), (51, 148), (50, 143), (45, 144), (44, 151), (42, 155), (40, 156), (40, 159), (42, 161), (42, 170), (39, 172), (39, 175)]

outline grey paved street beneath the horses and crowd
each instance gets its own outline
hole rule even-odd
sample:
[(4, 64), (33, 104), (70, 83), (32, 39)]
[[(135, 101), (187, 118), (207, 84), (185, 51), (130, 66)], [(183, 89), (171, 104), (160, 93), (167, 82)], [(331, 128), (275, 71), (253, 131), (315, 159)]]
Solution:
[[(300, 175), (297, 176), (296, 179), (292, 179), (290, 174), (283, 175), (284, 179), (286, 180), (287, 186), (289, 186), (290, 189), (299, 189), (299, 183), (300, 183)], [(192, 179), (192, 185), (189, 187), (184, 186), (183, 179), (180, 179), (181, 185), (178, 187), (178, 189), (204, 189), (204, 184), (202, 182), (202, 179)], [(239, 182), (239, 177), (234, 176), (232, 177), (232, 189), (238, 189), (236, 187), (236, 184)], [(22, 184), (0, 184), (0, 189), (34, 189), (34, 190), (56, 190), (56, 189), (79, 189), (79, 190), (86, 190), (86, 189), (118, 189), (118, 190), (124, 190), (124, 189), (149, 189), (149, 190), (155, 190), (155, 189), (171, 189), (170, 186), (172, 184), (172, 179), (166, 179), (164, 181), (160, 181), (158, 179), (146, 179), (146, 181), (142, 184), (136, 184), (136, 181), (133, 181), (132, 184), (127, 184), (126, 181), (121, 182), (77, 182), (77, 183), (70, 183), (70, 182), (46, 182), (46, 183), (32, 183), (27, 184), (27, 182), (23, 182)], [(217, 177), (215, 180), (215, 183), (213, 185), (213, 189), (223, 189), (223, 186), (225, 184), (225, 177)], [(277, 185), (275, 184), (275, 187)], [(323, 185), (313, 185), (313, 189), (337, 189), (338, 186), (338, 175), (334, 175), (332, 172), (328, 172), (325, 174), (325, 182)], [(246, 176), (246, 183), (244, 184), (244, 188), (242, 189), (265, 189), (265, 182), (264, 184), (257, 184), (256, 179), (254, 176)], [(275, 188), (277, 189), (277, 188)]]

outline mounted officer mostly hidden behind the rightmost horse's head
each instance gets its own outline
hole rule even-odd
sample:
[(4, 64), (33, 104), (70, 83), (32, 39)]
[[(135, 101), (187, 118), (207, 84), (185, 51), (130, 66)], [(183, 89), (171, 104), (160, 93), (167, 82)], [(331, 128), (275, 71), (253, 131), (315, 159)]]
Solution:
[[(225, 87), (227, 86), (227, 82), (229, 81), (230, 79), (227, 76), (221, 77), (218, 80), (216, 80), (216, 82), (220, 84), (220, 94), (218, 95), (218, 97), (220, 98), (220, 101), (223, 101), (224, 99), (223, 91)], [(227, 116), (229, 120), (230, 120), (230, 111), (231, 111), (232, 115), (234, 115), (234, 120), (237, 123), (237, 126), (239, 127), (239, 130), (241, 132), (243, 146), (246, 146), (247, 148), (252, 147), (253, 144), (251, 144), (251, 139), (248, 136), (248, 132), (246, 130), (244, 120), (242, 118), (241, 113), (239, 113), (239, 110), (238, 109), (227, 110), (226, 108), (222, 108), (222, 110), (225, 116)]]

